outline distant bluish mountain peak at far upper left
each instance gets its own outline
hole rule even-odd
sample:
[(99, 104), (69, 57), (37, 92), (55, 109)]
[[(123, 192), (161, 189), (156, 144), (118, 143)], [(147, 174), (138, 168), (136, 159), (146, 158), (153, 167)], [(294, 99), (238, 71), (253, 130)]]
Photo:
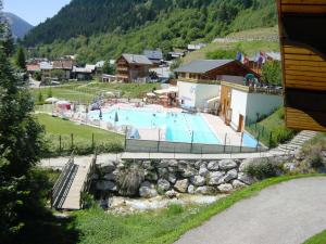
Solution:
[(24, 38), (24, 36), (33, 28), (33, 25), (15, 14), (4, 13), (4, 16), (7, 17), (15, 38)]

